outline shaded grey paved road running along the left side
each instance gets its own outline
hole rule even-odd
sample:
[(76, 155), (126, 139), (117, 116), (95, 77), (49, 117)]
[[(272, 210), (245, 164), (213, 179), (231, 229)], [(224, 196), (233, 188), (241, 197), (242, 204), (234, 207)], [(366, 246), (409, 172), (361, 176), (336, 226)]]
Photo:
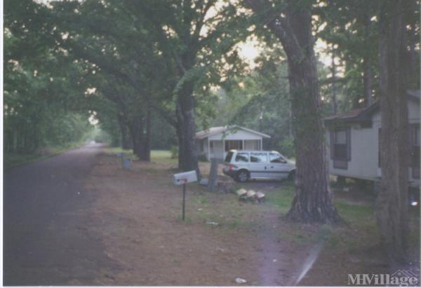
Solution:
[(98, 144), (17, 167), (4, 174), (4, 284), (95, 284), (116, 269), (87, 221), (93, 193), (82, 189)]

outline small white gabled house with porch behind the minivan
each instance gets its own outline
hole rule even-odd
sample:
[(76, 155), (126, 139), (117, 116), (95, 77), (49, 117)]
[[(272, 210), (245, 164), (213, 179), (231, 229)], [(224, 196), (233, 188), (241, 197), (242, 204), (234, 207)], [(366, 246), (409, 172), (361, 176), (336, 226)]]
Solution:
[(232, 149), (262, 150), (263, 138), (270, 136), (238, 125), (209, 128), (196, 133), (197, 155), (224, 159)]

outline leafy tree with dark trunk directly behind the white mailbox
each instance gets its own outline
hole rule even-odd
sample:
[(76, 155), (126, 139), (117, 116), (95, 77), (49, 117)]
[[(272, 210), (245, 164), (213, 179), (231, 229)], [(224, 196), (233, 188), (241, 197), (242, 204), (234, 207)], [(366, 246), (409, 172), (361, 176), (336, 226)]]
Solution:
[[(131, 11), (154, 27), (159, 49), (173, 69), (172, 96), (175, 99), (175, 125), (179, 145), (179, 167), (196, 170), (196, 106), (199, 91), (208, 89), (223, 77), (215, 73), (229, 67), (235, 58), (234, 45), (248, 34), (241, 13), (228, 2), (204, 1), (128, 1)], [(235, 70), (236, 67), (231, 67)], [(220, 72), (220, 70), (218, 71)], [(207, 88), (206, 88), (207, 87)]]

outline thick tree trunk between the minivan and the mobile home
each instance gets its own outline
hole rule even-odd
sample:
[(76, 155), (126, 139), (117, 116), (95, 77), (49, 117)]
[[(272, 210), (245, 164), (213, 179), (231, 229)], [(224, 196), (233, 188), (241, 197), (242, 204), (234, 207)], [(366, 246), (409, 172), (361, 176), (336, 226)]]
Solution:
[[(272, 7), (268, 1), (248, 0), (258, 13)], [(288, 1), (286, 18), (279, 16), (267, 27), (279, 38), (288, 57), (295, 150), (295, 198), (287, 219), (331, 223), (338, 220), (328, 185), (325, 134), (312, 37), (312, 3)]]

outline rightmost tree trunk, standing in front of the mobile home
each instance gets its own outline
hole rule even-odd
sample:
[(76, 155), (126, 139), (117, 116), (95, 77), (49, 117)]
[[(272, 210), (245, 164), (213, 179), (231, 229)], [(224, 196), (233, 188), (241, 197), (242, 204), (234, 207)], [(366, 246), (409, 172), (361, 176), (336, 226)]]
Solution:
[(408, 107), (403, 57), (403, 2), (382, 1), (380, 11), (380, 162), (376, 201), (382, 245), (392, 263), (403, 263), (408, 247)]

